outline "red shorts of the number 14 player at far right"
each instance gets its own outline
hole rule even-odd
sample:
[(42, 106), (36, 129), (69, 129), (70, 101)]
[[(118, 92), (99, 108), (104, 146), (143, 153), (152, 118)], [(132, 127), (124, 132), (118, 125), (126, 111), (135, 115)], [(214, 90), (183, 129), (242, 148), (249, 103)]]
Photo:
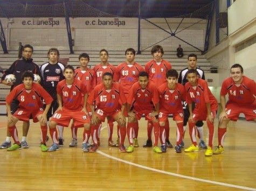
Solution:
[(256, 119), (256, 102), (253, 102), (251, 105), (227, 102), (225, 111), (227, 117), (232, 121), (237, 121), (240, 113), (245, 114), (247, 121), (252, 121)]

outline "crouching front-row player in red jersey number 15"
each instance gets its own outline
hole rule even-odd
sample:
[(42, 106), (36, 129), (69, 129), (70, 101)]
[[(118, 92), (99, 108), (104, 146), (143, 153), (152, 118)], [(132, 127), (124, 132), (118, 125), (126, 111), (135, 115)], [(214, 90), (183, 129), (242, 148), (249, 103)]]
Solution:
[[(88, 98), (88, 104), (92, 112), (91, 135), (93, 139), (92, 148), (89, 152), (98, 150), (98, 139), (96, 137), (98, 125), (105, 121), (106, 117), (114, 119), (119, 126), (120, 143), (119, 150), (126, 152), (124, 147), (124, 139), (126, 137), (126, 117), (124, 109), (126, 108), (126, 96), (123, 93), (121, 86), (113, 83), (113, 75), (110, 72), (105, 72), (102, 75), (103, 84), (96, 85)], [(96, 111), (93, 104), (96, 101)], [(122, 106), (120, 105), (120, 102)], [(112, 120), (113, 121), (113, 120)]]

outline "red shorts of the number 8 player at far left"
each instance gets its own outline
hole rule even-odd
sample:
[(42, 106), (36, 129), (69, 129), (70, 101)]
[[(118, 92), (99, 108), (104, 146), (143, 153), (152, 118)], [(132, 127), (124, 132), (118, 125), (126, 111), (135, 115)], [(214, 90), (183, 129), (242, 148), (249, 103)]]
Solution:
[(13, 116), (17, 117), (20, 121), (29, 121), (30, 115), (32, 115), (33, 122), (38, 122), (37, 116), (44, 113), (43, 108), (39, 108), (36, 111), (27, 110), (24, 108), (18, 108)]

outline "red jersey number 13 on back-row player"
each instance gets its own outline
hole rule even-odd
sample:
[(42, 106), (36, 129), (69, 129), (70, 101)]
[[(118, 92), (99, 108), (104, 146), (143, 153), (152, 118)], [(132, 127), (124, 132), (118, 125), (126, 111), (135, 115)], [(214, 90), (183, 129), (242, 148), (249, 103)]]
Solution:
[(138, 82), (138, 76), (141, 71), (144, 71), (144, 69), (140, 64), (135, 62), (131, 65), (124, 62), (116, 67), (113, 79), (115, 82), (120, 80), (119, 83), (124, 93), (128, 94), (132, 85)]

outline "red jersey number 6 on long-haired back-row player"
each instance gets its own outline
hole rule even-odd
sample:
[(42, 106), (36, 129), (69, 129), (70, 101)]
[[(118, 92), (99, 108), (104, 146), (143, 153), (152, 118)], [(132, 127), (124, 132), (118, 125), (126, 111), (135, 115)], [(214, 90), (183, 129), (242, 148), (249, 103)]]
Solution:
[(148, 73), (149, 79), (154, 82), (157, 87), (167, 82), (165, 75), (170, 69), (171, 64), (165, 60), (162, 60), (160, 64), (152, 60), (145, 65), (145, 71)]

